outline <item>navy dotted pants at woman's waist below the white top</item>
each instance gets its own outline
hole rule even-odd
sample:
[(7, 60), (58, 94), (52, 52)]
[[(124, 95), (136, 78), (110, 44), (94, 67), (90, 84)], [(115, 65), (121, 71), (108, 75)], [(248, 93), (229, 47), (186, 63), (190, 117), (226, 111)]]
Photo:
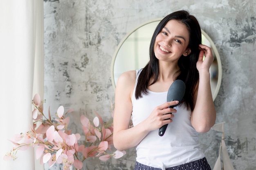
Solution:
[[(144, 164), (136, 162), (134, 170), (162, 170), (162, 169), (146, 166)], [(199, 159), (197, 161), (166, 168), (165, 170), (211, 170), (211, 167), (209, 166), (206, 158), (204, 157), (203, 159)]]

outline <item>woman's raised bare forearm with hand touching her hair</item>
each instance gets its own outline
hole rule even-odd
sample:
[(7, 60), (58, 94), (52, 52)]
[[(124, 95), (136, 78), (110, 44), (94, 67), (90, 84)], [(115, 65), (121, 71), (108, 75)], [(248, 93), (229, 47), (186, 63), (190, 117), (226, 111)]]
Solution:
[[(199, 133), (208, 132), (216, 121), (216, 110), (213, 104), (209, 68), (213, 62), (211, 48), (200, 45), (201, 52), (197, 62), (199, 71), (198, 88), (195, 91), (195, 107), (191, 114), (191, 124)], [(205, 54), (205, 59), (203, 55)]]

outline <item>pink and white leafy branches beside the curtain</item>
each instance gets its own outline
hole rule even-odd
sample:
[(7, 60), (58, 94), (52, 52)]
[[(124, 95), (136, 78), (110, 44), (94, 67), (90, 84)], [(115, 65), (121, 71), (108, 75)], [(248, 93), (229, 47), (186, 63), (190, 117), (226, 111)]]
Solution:
[(96, 111), (97, 117), (93, 121), (90, 121), (84, 115), (81, 116), (85, 141), (84, 144), (79, 145), (82, 142), (79, 142), (81, 135), (74, 134), (71, 129), (68, 129), (70, 118), (65, 118), (73, 110), (70, 109), (64, 113), (64, 107), (58, 107), (56, 118), (53, 121), (49, 110), (48, 118), (43, 113), (43, 102), (38, 94), (34, 96), (32, 100), (34, 121), (31, 131), (28, 131), (26, 135), (20, 133), (12, 137), (10, 141), (16, 145), (16, 148), (13, 147), (10, 152), (6, 153), (4, 160), (11, 158), (15, 160), (17, 159), (18, 150), (26, 150), (29, 147), (36, 146), (36, 159), (40, 158), (41, 163), (48, 163), (50, 167), (54, 163), (63, 163), (64, 170), (69, 170), (69, 167), (73, 164), (76, 168), (81, 169), (83, 161), (89, 157), (99, 157), (100, 160), (107, 161), (110, 157), (118, 159), (126, 154), (125, 151), (116, 150), (113, 152), (111, 150), (113, 145), (112, 115), (114, 105), (111, 105), (111, 118), (108, 122), (103, 122), (102, 117)]

